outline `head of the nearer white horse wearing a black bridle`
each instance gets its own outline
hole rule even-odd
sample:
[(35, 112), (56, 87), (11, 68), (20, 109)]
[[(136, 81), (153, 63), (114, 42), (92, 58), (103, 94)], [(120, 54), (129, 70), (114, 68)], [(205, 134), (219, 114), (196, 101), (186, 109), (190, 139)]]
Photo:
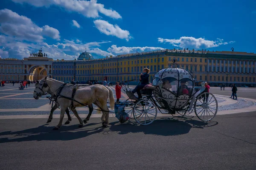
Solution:
[(34, 98), (39, 99), (39, 97), (43, 96), (48, 90), (49, 86), (46, 82), (47, 76), (35, 83), (35, 90), (34, 90)]

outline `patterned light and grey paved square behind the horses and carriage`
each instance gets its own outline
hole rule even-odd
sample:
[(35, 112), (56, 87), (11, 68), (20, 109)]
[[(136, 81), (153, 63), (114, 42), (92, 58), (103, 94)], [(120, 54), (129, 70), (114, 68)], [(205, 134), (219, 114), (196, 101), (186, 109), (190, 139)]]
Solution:
[[(47, 99), (46, 96), (42, 96), (40, 99), (35, 100), (33, 98), (34, 85), (30, 85), (30, 87), (27, 87), (24, 90), (19, 90), (18, 86), (19, 85), (16, 83), (14, 86), (12, 84), (6, 84), (6, 86), (0, 87), (0, 116), (49, 114), (51, 110), (49, 99)], [(115, 96), (114, 86), (111, 86), (111, 88)], [(218, 88), (212, 87), (211, 90), (212, 93), (217, 93)], [(225, 93), (230, 93), (227, 90), (228, 89), (226, 89)], [(242, 90), (248, 90), (248, 93), (250, 94), (254, 91), (254, 94), (256, 94), (256, 88), (243, 88)], [(244, 93), (245, 92), (243, 92), (243, 94)], [(233, 100), (230, 99), (229, 96), (219, 95), (219, 92), (215, 94), (215, 97), (218, 101), (217, 114), (241, 113), (256, 110), (255, 99), (238, 98), (238, 100)], [(128, 99), (128, 96), (122, 91), (120, 101), (125, 101), (126, 99)], [(79, 111), (79, 114), (88, 113), (87, 107), (77, 108), (77, 110)], [(96, 113), (96, 111), (93, 111), (93, 113)], [(54, 114), (60, 114), (60, 110), (57, 109)]]

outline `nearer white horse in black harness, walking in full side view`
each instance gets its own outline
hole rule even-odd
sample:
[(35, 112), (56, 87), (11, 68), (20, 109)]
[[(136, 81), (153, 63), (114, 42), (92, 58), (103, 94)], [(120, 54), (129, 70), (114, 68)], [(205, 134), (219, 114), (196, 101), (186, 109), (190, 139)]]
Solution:
[[(61, 86), (64, 84), (64, 82), (60, 82), (55, 79), (47, 78), (47, 76), (43, 79), (41, 79), (39, 86), (35, 85), (35, 93), (34, 98), (39, 99), (42, 95), (44, 95), (46, 92), (48, 92), (51, 95), (57, 95), (58, 90), (61, 88)], [(75, 85), (65, 85), (62, 89), (60, 95), (65, 97), (72, 97), (73, 94), (73, 88)], [(58, 97), (57, 102), (61, 107), (61, 115), (60, 115), (60, 121), (57, 126), (53, 128), (53, 130), (58, 130), (61, 125), (64, 118), (65, 110), (71, 106), (71, 111), (73, 111), (74, 115), (79, 120), (79, 127), (82, 127), (84, 125), (84, 122), (87, 122), (88, 116), (91, 114), (93, 107), (92, 104), (97, 105), (102, 110), (102, 126), (107, 127), (108, 125), (108, 117), (109, 117), (109, 109), (107, 106), (108, 99), (110, 100), (110, 107), (111, 109), (114, 108), (115, 100), (113, 96), (113, 91), (111, 88), (106, 87), (104, 85), (90, 85), (82, 88), (78, 88), (74, 97), (73, 105), (72, 101), (70, 99), (66, 99), (64, 97)], [(79, 102), (79, 103), (78, 103)], [(80, 118), (76, 111), (76, 107), (83, 107), (83, 106), (89, 106), (89, 114), (84, 121)], [(91, 108), (90, 108), (91, 106)], [(90, 118), (90, 116), (89, 116)]]

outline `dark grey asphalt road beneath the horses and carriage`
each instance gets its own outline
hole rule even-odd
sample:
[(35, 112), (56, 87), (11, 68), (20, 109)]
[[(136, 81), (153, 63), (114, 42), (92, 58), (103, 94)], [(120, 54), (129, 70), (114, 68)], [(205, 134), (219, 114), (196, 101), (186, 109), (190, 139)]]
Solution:
[[(160, 118), (158, 118), (160, 119)], [(217, 115), (213, 122), (156, 120), (148, 126), (101, 128), (91, 118), (60, 130), (53, 119), (0, 119), (1, 170), (255, 170), (256, 112)]]

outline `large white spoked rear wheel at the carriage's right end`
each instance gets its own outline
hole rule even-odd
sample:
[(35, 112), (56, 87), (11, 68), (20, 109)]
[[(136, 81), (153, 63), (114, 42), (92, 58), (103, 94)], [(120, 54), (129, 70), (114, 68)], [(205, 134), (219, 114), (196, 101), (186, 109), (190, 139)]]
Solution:
[(218, 102), (211, 93), (202, 93), (195, 100), (195, 114), (202, 121), (214, 118), (218, 111)]

